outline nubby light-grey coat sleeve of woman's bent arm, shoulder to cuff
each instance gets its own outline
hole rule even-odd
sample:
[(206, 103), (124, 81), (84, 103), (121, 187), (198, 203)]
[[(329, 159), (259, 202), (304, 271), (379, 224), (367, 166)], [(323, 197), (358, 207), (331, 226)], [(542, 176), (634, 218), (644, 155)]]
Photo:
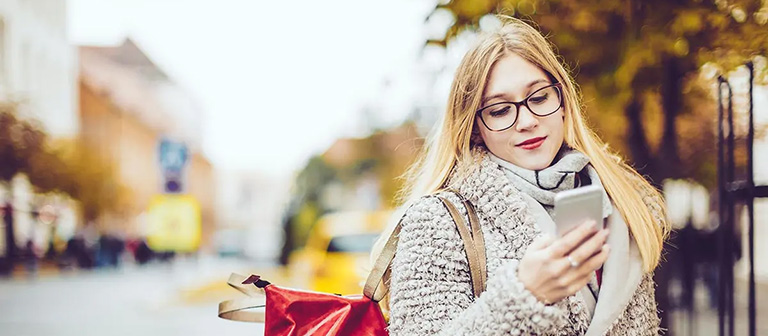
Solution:
[(517, 279), (517, 260), (505, 260), (475, 299), (461, 238), (439, 200), (423, 198), (405, 216), (392, 263), (390, 335), (543, 335), (567, 323), (564, 310), (539, 302)]

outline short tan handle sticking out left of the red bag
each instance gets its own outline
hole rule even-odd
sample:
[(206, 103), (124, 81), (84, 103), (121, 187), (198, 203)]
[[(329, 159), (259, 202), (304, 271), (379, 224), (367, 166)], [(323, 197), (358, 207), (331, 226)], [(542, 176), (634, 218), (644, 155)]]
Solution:
[(248, 279), (248, 277), (237, 273), (229, 275), (227, 284), (248, 297), (220, 302), (220, 318), (241, 322), (264, 322), (265, 315), (263, 311), (247, 311), (255, 308), (266, 308), (267, 306), (264, 289), (253, 284), (243, 284)]

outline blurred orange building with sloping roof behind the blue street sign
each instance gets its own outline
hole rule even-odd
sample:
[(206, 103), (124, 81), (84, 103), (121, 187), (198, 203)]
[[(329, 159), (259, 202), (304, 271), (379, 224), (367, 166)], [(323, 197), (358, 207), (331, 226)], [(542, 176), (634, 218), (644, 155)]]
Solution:
[(202, 207), (203, 246), (211, 237), (214, 168), (201, 151), (202, 111), (130, 39), (110, 47), (83, 46), (80, 60), (81, 138), (117, 164), (121, 182), (132, 191), (126, 218), (112, 218), (106, 230), (146, 234), (150, 199), (163, 192), (159, 143), (163, 138), (189, 148), (184, 192)]

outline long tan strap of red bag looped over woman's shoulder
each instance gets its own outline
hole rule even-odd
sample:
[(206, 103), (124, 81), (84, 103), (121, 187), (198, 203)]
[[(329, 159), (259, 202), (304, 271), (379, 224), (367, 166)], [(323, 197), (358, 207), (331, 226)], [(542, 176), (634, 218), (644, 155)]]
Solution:
[[(475, 208), (469, 200), (465, 199), (461, 194), (454, 190), (447, 189), (447, 191), (456, 194), (462, 200), (462, 203), (467, 209), (467, 214), (469, 215), (472, 235), (469, 234), (467, 225), (465, 224), (466, 222), (459, 214), (456, 207), (445, 198), (437, 196), (448, 209), (448, 213), (451, 215), (454, 224), (456, 224), (456, 227), (459, 230), (459, 235), (464, 242), (464, 249), (467, 253), (467, 261), (469, 262), (469, 270), (472, 280), (472, 291), (475, 294), (475, 297), (479, 297), (483, 290), (485, 290), (485, 280), (487, 276), (485, 241), (483, 240), (482, 230), (480, 230), (480, 222)], [(381, 301), (386, 295), (386, 290), (384, 290), (383, 286), (380, 286), (380, 284), (384, 277), (384, 273), (392, 264), (392, 259), (395, 257), (402, 222), (403, 218), (400, 218), (400, 221), (397, 222), (392, 234), (387, 239), (381, 254), (373, 264), (373, 269), (371, 270), (371, 273), (368, 274), (368, 279), (365, 282), (363, 294), (375, 302)]]

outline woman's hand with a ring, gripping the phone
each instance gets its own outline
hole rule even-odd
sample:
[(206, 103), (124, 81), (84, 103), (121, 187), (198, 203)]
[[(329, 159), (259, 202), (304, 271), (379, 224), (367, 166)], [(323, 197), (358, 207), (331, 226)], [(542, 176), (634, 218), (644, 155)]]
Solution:
[(608, 258), (608, 229), (585, 222), (560, 239), (540, 237), (528, 247), (517, 277), (539, 301), (551, 304), (587, 285)]

